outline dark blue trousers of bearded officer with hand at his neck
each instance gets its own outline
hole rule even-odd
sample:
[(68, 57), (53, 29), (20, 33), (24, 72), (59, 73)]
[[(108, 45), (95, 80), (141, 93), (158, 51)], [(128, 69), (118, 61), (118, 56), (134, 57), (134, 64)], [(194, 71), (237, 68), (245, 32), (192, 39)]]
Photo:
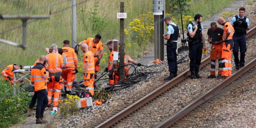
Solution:
[(189, 44), (190, 71), (199, 70), (202, 58), (202, 48), (203, 44), (201, 42), (198, 42), (196, 44)]

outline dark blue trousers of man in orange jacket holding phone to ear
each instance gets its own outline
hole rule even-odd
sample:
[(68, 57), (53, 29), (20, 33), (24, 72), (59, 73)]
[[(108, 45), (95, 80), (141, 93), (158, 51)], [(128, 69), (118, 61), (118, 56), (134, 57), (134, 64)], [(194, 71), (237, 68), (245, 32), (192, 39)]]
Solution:
[(36, 118), (39, 118), (44, 114), (44, 109), (48, 104), (48, 98), (47, 98), (46, 89), (36, 91), (36, 93), (37, 93)]

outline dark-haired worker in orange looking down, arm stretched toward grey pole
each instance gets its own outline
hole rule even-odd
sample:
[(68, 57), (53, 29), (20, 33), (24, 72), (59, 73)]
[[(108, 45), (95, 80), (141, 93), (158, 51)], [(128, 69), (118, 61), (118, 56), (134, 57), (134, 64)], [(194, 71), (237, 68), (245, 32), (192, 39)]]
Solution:
[[(94, 56), (94, 67), (95, 67), (95, 78), (97, 79), (97, 72), (100, 70), (100, 59), (103, 56), (103, 44), (100, 41), (101, 36), (100, 34), (97, 34), (94, 38), (87, 38), (84, 41), (80, 42), (77, 44), (78, 46), (82, 44), (87, 44), (89, 51), (92, 52)], [(100, 56), (99, 56), (99, 51), (100, 51)]]

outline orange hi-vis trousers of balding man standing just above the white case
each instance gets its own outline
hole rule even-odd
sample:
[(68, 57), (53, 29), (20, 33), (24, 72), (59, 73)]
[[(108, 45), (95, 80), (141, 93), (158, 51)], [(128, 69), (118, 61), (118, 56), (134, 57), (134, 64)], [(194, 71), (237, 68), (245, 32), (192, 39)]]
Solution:
[(84, 86), (92, 95), (94, 95), (94, 73), (84, 75)]

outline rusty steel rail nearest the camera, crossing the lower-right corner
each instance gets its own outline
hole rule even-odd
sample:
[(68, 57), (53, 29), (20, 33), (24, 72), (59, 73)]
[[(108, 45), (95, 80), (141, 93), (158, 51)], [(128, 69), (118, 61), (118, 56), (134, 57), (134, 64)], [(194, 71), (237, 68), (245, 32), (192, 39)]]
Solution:
[[(249, 36), (253, 35), (256, 32), (256, 26), (249, 31), (247, 31), (246, 38)], [(227, 86), (228, 84), (232, 83), (234, 80), (236, 80), (241, 74), (245, 73), (249, 69), (251, 69), (253, 66), (256, 65), (256, 58), (250, 61), (247, 65), (245, 65), (242, 69), (236, 71), (234, 74), (229, 76), (227, 79), (222, 81), (220, 84), (217, 86), (213, 87), (210, 89), (208, 92), (206, 92), (204, 95), (200, 96), (197, 98), (195, 101), (187, 105), (185, 108), (174, 114), (172, 117), (170, 117), (168, 120), (164, 121), (161, 123), (159, 126), (155, 128), (166, 128), (171, 126), (173, 123), (175, 123), (177, 120), (185, 116), (188, 112), (192, 111), (194, 108), (202, 104), (203, 102), (209, 100), (211, 97), (216, 95), (218, 91), (220, 91), (222, 88)]]

